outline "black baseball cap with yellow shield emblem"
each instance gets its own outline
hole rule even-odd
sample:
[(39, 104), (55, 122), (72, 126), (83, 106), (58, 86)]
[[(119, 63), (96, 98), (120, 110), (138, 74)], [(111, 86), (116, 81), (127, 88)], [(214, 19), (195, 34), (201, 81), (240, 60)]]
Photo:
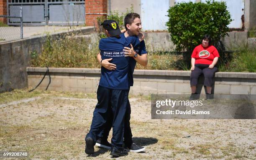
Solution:
[(105, 20), (101, 25), (105, 30), (108, 30), (111, 37), (121, 34), (118, 23), (115, 20)]

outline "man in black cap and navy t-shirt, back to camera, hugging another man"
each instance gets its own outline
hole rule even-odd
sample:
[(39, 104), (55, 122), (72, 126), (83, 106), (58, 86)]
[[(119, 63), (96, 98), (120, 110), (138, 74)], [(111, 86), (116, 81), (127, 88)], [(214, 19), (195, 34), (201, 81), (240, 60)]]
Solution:
[(102, 60), (112, 58), (112, 62), (116, 64), (116, 70), (108, 70), (101, 67), (101, 77), (97, 90), (98, 103), (93, 112), (90, 131), (85, 138), (85, 153), (94, 153), (93, 146), (96, 143), (96, 139), (101, 136), (106, 120), (113, 115), (113, 137), (110, 155), (127, 155), (127, 150), (124, 150), (122, 145), (128, 100), (128, 64), (130, 58), (125, 57), (123, 47), (130, 44), (138, 45), (143, 40), (143, 37), (142, 34), (139, 36), (140, 40), (137, 36), (120, 37), (120, 29), (114, 20), (105, 20), (102, 25), (108, 38), (100, 40), (100, 55)]

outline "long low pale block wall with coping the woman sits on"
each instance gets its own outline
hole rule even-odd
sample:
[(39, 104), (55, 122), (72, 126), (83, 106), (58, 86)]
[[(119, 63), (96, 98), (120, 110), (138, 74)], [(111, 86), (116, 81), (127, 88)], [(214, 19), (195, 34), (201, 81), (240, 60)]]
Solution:
[[(35, 87), (46, 68), (28, 67), (28, 87)], [(50, 68), (49, 90), (92, 93), (97, 91), (100, 69)], [(135, 70), (131, 94), (190, 94), (190, 71)], [(46, 76), (38, 87), (45, 90), (49, 77)], [(205, 93), (201, 84), (197, 92)], [(256, 73), (217, 72), (215, 74), (215, 94), (256, 94)], [(201, 87), (201, 88), (200, 88)]]

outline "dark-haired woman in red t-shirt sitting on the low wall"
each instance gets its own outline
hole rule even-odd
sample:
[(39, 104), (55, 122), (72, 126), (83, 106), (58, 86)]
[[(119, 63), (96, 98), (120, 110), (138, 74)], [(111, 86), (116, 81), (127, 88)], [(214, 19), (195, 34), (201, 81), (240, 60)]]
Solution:
[(197, 82), (201, 74), (205, 77), (204, 86), (206, 86), (206, 97), (211, 99), (213, 96), (211, 94), (213, 77), (218, 68), (215, 65), (218, 62), (218, 57), (220, 57), (218, 50), (211, 45), (210, 35), (204, 35), (202, 38), (202, 44), (195, 47), (191, 55), (191, 75), (190, 75), (190, 86), (191, 86), (191, 96), (190, 100), (198, 99), (197, 96)]

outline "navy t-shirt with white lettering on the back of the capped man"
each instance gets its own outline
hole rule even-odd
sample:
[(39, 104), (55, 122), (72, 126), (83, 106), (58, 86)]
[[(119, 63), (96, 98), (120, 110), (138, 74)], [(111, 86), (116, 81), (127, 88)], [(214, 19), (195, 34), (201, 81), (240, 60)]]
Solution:
[(130, 47), (130, 44), (136, 46), (140, 44), (137, 36), (125, 38), (124, 36), (102, 38), (99, 48), (102, 60), (113, 58), (110, 63), (116, 65), (115, 70), (108, 70), (101, 67), (101, 77), (99, 85), (116, 90), (126, 90), (129, 88), (128, 68), (131, 59), (124, 57), (124, 47)]

